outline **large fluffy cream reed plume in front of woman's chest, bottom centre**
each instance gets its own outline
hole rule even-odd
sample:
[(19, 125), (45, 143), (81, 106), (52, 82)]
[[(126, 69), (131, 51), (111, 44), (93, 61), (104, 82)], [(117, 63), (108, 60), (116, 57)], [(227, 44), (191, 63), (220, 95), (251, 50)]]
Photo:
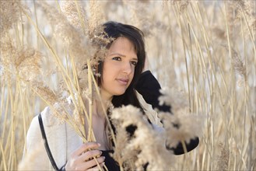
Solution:
[(164, 146), (165, 137), (148, 123), (138, 108), (122, 106), (114, 109), (110, 117), (117, 132), (113, 156), (121, 166), (128, 170), (171, 168), (173, 154)]

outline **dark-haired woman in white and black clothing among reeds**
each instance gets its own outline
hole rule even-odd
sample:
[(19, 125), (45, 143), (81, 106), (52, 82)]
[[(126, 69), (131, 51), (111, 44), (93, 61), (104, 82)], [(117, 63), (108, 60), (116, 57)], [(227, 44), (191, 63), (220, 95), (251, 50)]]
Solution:
[[(100, 61), (97, 68), (101, 75), (98, 80), (100, 95), (106, 106), (109, 101), (114, 107), (132, 104), (143, 112), (135, 94), (136, 89), (153, 108), (170, 112), (170, 106), (159, 105), (158, 97), (161, 94), (157, 80), (149, 71), (142, 73), (146, 58), (142, 31), (134, 26), (115, 22), (107, 22), (103, 26), (107, 37), (114, 38), (106, 45), (107, 56)], [(93, 157), (96, 157), (100, 166), (105, 163), (109, 170), (119, 170), (119, 166), (109, 155), (111, 149), (104, 134), (103, 109), (99, 102), (93, 104), (93, 133), (96, 142), (82, 144), (82, 139), (68, 124), (49, 124), (48, 107), (40, 113), (40, 124), (37, 117), (33, 118), (27, 133), (27, 152), (37, 147), (37, 142), (42, 140), (42, 131), (45, 132), (48, 144), (44, 154), (40, 154), (42, 162), (37, 169), (54, 167), (66, 170), (94, 170), (97, 166)], [(87, 129), (88, 125), (85, 127)], [(191, 151), (197, 145), (198, 138), (187, 145), (187, 150)], [(181, 145), (173, 150), (175, 154), (184, 153)]]

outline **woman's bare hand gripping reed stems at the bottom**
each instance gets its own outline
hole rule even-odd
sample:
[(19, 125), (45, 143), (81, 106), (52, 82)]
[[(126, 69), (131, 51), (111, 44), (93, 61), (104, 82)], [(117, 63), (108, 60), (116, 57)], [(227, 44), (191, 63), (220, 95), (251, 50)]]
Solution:
[[(68, 160), (65, 169), (66, 170), (99, 170), (96, 164), (100, 164), (103, 167), (104, 156), (100, 156), (102, 152), (98, 150), (100, 144), (96, 142), (86, 142), (81, 145), (75, 152), (72, 153), (71, 158)], [(93, 157), (96, 158), (93, 159)]]

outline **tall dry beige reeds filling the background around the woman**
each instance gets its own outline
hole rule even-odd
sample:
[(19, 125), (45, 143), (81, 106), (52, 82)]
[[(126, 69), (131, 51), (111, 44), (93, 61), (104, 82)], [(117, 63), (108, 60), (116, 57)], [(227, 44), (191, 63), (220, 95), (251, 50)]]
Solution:
[[(255, 169), (253, 1), (0, 3), (1, 170), (17, 169), (33, 116), (54, 105), (61, 92), (73, 99), (86, 92), (81, 85), (93, 76), (82, 77), (81, 68), (94, 53), (88, 44), (93, 37), (80, 36), (91, 35), (107, 20), (142, 29), (153, 74), (163, 87), (184, 93), (191, 113), (205, 117), (198, 148), (176, 156), (171, 169)], [(87, 79), (79, 83), (77, 75)], [(96, 86), (89, 87), (88, 96), (98, 96)]]

